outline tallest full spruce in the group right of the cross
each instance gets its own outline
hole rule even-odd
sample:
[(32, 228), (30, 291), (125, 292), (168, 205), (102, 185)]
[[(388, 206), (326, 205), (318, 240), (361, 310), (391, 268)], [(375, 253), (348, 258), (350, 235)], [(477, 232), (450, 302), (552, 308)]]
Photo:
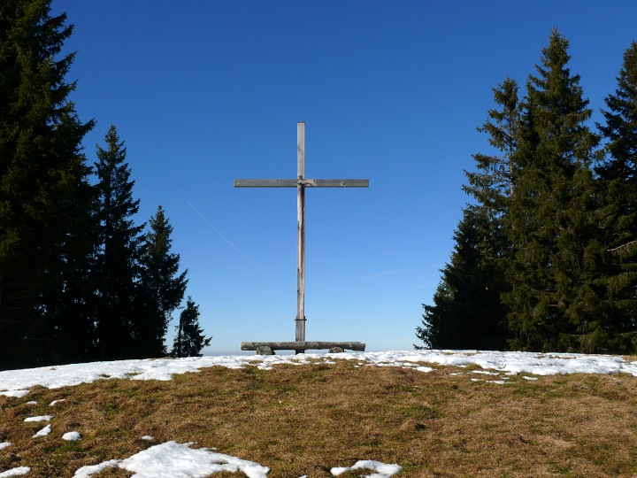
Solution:
[(556, 30), (529, 76), (513, 155), (516, 173), (507, 213), (511, 255), (503, 295), (514, 349), (600, 351), (603, 327), (595, 286), (595, 189), (598, 137), (568, 42)]

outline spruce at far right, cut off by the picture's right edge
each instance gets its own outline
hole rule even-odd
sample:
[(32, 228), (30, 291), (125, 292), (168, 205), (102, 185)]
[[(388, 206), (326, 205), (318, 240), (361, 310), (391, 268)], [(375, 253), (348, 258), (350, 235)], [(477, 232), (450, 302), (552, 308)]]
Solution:
[(637, 43), (625, 50), (618, 88), (605, 99), (605, 158), (601, 183), (605, 257), (599, 281), (605, 291), (609, 350), (637, 353)]

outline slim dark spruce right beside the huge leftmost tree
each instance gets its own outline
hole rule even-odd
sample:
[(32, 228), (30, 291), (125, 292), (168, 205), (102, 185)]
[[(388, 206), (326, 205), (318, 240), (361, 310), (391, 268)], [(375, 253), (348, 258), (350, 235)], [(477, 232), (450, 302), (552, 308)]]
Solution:
[(130, 358), (138, 355), (138, 319), (143, 315), (143, 225), (135, 226), (139, 200), (133, 198), (134, 181), (126, 163), (127, 150), (111, 126), (97, 146), (96, 189), (99, 193), (99, 249), (96, 259), (97, 357)]

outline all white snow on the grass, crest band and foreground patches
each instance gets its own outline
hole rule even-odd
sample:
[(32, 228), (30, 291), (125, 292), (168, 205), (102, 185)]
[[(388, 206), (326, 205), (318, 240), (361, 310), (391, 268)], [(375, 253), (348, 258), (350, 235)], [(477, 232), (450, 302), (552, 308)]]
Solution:
[[(537, 380), (537, 375), (551, 374), (632, 374), (637, 376), (637, 362), (628, 363), (623, 358), (609, 355), (583, 354), (541, 354), (530, 352), (497, 351), (384, 351), (384, 352), (345, 352), (341, 354), (298, 354), (272, 356), (225, 356), (179, 359), (147, 359), (96, 362), (68, 366), (40, 367), (27, 370), (0, 372), (0, 395), (5, 397), (25, 397), (31, 387), (41, 385), (48, 389), (91, 383), (96, 380), (121, 378), (129, 380), (171, 380), (174, 374), (198, 372), (210, 366), (242, 368), (257, 366), (268, 370), (280, 364), (308, 365), (311, 363), (334, 363), (334, 358), (354, 360), (355, 366), (401, 366), (427, 373), (434, 370), (431, 366), (480, 366), (482, 371), (472, 370), (471, 374), (501, 375), (500, 380), (482, 381), (504, 384), (510, 375), (523, 375), (526, 380)], [(430, 366), (424, 366), (427, 364)], [(507, 376), (502, 376), (507, 375)], [(481, 381), (481, 379), (471, 379)], [(63, 400), (56, 400), (50, 406)], [(29, 417), (25, 421), (47, 421), (51, 415)], [(51, 426), (47, 425), (34, 437), (47, 436)], [(78, 432), (65, 433), (65, 440), (77, 440)], [(143, 436), (152, 440), (151, 436)], [(11, 443), (0, 443), (0, 450)], [(111, 459), (94, 466), (82, 466), (74, 478), (88, 478), (109, 467), (119, 467), (134, 473), (136, 478), (198, 478), (219, 472), (239, 472), (249, 478), (265, 478), (269, 472), (267, 466), (223, 455), (207, 448), (191, 448), (192, 443), (167, 442), (151, 446), (127, 459)], [(360, 460), (354, 466), (334, 467), (332, 474), (367, 469), (373, 478), (388, 478), (401, 471), (398, 465), (388, 465), (371, 460)], [(0, 478), (27, 474), (30, 468), (21, 466), (0, 473)]]

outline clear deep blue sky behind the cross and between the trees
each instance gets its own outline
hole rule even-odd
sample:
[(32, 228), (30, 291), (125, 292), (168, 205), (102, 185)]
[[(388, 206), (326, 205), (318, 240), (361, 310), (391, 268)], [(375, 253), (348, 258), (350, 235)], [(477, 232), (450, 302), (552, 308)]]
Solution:
[(68, 80), (88, 162), (111, 124), (127, 146), (139, 221), (161, 204), (212, 346), (294, 340), (296, 122), (306, 177), (367, 178), (310, 189), (308, 340), (412, 348), (422, 303), (467, 197), (476, 132), (507, 76), (523, 87), (551, 27), (595, 109), (637, 37), (637, 3), (566, 1), (53, 0), (75, 25)]

